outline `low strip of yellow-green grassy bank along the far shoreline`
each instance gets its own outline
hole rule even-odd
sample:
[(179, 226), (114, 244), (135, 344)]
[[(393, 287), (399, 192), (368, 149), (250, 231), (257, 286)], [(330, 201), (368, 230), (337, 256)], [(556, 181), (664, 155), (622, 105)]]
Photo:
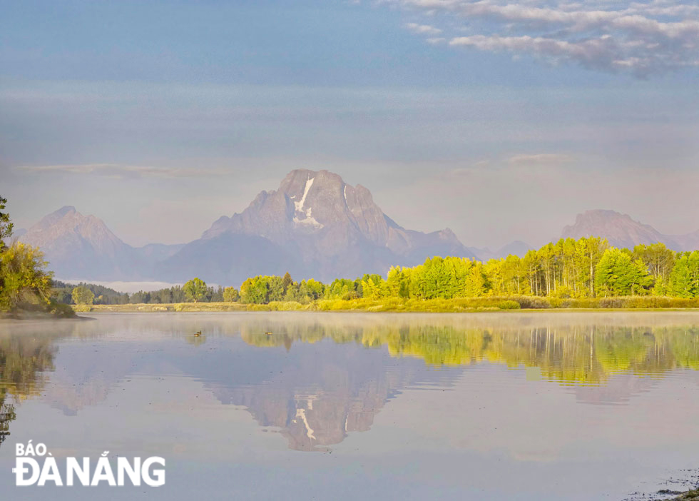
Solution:
[(454, 299), (320, 299), (302, 304), (272, 301), (269, 304), (244, 303), (173, 303), (128, 305), (74, 305), (78, 312), (185, 312), (185, 311), (411, 311), (459, 313), (481, 310), (545, 309), (685, 309), (699, 308), (699, 299), (629, 296), (621, 298), (558, 299), (532, 296)]

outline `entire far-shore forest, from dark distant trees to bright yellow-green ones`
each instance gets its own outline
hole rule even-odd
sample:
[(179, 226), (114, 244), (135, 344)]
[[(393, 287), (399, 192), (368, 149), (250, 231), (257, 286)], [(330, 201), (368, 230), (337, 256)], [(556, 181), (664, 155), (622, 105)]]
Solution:
[[(354, 301), (344, 304), (352, 309), (361, 303), (357, 300), (409, 301), (412, 308), (417, 308), (420, 301), (480, 298), (469, 304), (509, 309), (561, 305), (597, 307), (602, 301), (602, 305), (626, 307), (627, 303), (615, 302), (613, 298), (699, 298), (699, 251), (677, 253), (663, 243), (639, 245), (633, 250), (618, 249), (610, 247), (603, 238), (568, 238), (549, 243), (538, 251), (529, 251), (523, 258), (509, 255), (482, 263), (468, 258), (435, 256), (413, 267), (394, 266), (385, 277), (366, 274), (353, 280), (337, 278), (332, 283), (312, 278), (296, 281), (286, 273), (283, 276), (257, 275), (236, 289), (213, 288), (194, 278), (181, 287), (133, 295), (98, 285), (57, 285), (61, 285), (56, 288), (58, 300), (76, 304), (223, 301), (248, 305), (309, 305), (326, 301), (320, 309), (343, 306), (342, 303), (328, 304), (330, 300)], [(646, 300), (638, 304), (650, 308), (687, 307), (694, 303)], [(699, 301), (696, 303), (699, 305)]]

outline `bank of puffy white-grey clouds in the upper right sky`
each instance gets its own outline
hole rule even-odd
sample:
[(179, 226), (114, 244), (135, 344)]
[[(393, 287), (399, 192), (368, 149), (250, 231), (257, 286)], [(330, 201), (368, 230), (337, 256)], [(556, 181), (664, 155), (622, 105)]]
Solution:
[[(464, 24), (465, 36), (450, 46), (481, 51), (531, 54), (553, 64), (572, 61), (591, 69), (648, 76), (699, 66), (699, 6), (688, 0), (645, 3), (583, 0), (385, 0), (441, 19)], [(442, 14), (437, 16), (436, 14)], [(419, 28), (447, 28), (410, 24)], [(456, 29), (455, 29), (456, 31)]]

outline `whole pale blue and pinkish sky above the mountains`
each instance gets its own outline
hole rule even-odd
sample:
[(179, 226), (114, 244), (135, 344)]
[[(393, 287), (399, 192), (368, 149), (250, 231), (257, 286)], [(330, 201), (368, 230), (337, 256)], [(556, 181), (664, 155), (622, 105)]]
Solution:
[(539, 246), (699, 230), (690, 0), (0, 0), (0, 195), (182, 243), (294, 168), (402, 226)]

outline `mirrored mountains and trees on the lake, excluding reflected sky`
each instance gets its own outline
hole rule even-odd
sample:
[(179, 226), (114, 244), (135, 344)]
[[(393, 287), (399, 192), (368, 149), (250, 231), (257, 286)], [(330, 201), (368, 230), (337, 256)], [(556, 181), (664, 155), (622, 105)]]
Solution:
[(522, 378), (536, 368), (578, 402), (606, 404), (699, 368), (690, 313), (95, 316), (0, 325), (0, 444), (24, 400), (78, 415), (135, 375), (184, 375), (291, 449), (327, 450), (405, 388), (448, 389), (481, 363)]

